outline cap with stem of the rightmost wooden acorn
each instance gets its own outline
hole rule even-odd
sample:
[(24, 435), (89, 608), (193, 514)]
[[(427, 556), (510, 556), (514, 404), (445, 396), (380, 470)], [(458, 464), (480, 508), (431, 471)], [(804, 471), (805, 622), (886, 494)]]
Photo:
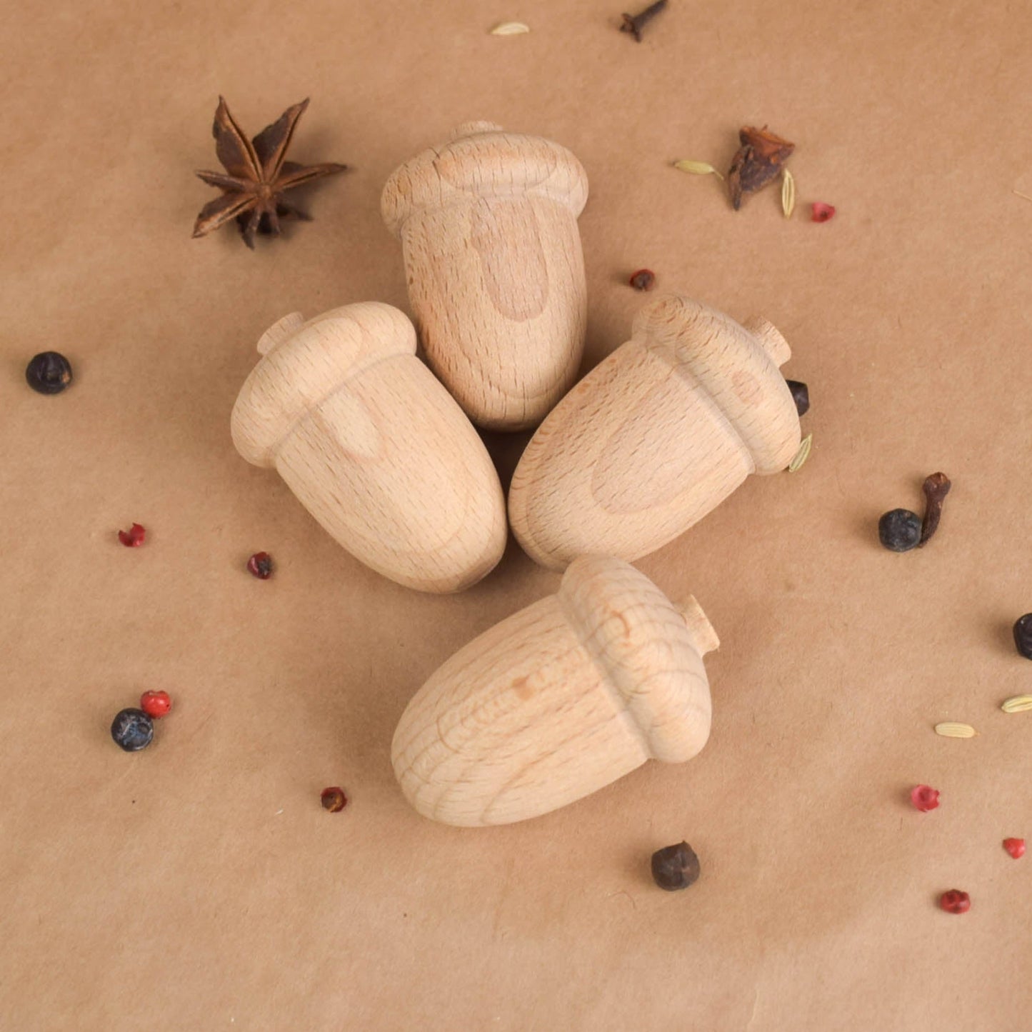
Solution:
[[(765, 319), (742, 326), (683, 294), (663, 294), (638, 313), (633, 334), (706, 390), (749, 450), (756, 473), (787, 466), (801, 433), (796, 402), (778, 368), (792, 351), (774, 326)], [(733, 360), (716, 361), (729, 347)], [(757, 420), (751, 415), (761, 399), (769, 414)]]

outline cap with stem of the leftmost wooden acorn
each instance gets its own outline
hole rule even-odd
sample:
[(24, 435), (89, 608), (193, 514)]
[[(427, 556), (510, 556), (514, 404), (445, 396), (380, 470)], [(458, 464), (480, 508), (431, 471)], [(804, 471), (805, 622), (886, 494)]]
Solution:
[(416, 330), (390, 304), (363, 301), (308, 322), (297, 312), (285, 316), (258, 351), (263, 357), (240, 388), (230, 426), (240, 455), (271, 466), (298, 420), (350, 379), (392, 355), (415, 355)]

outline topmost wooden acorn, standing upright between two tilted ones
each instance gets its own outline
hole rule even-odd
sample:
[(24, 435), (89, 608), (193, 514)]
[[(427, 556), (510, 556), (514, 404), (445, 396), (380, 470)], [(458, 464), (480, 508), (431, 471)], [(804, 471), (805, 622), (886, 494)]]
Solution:
[(490, 122), (459, 126), (384, 187), (427, 361), (481, 426), (536, 426), (577, 376), (586, 202), (566, 148)]

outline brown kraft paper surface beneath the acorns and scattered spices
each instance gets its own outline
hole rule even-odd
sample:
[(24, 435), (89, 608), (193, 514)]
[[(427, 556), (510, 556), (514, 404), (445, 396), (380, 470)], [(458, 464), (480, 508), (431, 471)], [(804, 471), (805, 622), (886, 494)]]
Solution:
[[(1015, 1029), (1032, 1004), (1029, 583), (1032, 27), (982, 0), (184, 0), (5, 14), (0, 248), (0, 1027), (35, 1030)], [(497, 38), (499, 21), (529, 35)], [(292, 156), (354, 171), (249, 253), (192, 240), (219, 93), (254, 133), (311, 95)], [(655, 270), (785, 333), (808, 464), (751, 478), (639, 565), (694, 592), (710, 744), (557, 813), (480, 831), (411, 811), (389, 763), (423, 679), (554, 590), (511, 544), (454, 598), (353, 560), (233, 451), (229, 412), (286, 312), (407, 308), (391, 169), (459, 122), (570, 147), (588, 361)], [(733, 213), (743, 123), (794, 139), (800, 211)], [(815, 225), (807, 205), (838, 206)], [(37, 351), (74, 364), (59, 397)], [(490, 438), (506, 477), (524, 438)], [(893, 555), (883, 510), (955, 487)], [(115, 531), (138, 520), (147, 545)], [(275, 578), (243, 565), (270, 551)], [(144, 688), (156, 743), (107, 732)], [(980, 737), (932, 733), (941, 719)], [(920, 814), (909, 787), (942, 806)], [(319, 792), (341, 783), (341, 814)], [(656, 890), (686, 837), (699, 883)], [(936, 907), (966, 889), (962, 917)]]

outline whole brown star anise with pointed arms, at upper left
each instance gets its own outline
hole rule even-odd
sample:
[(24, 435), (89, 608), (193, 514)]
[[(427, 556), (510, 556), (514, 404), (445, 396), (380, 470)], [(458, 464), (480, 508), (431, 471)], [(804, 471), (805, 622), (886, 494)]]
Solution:
[(203, 236), (235, 219), (244, 243), (255, 246), (255, 233), (280, 232), (280, 218), (293, 215), (310, 219), (308, 213), (291, 204), (284, 194), (313, 180), (343, 172), (348, 166), (328, 162), (323, 165), (298, 165), (285, 161), (287, 148), (294, 137), (297, 122), (309, 106), (305, 97), (299, 104), (288, 107), (271, 125), (249, 140), (233, 121), (224, 98), (219, 97), (215, 111), (215, 153), (226, 169), (223, 172), (200, 171), (197, 174), (213, 187), (223, 191), (221, 197), (208, 201), (194, 223), (194, 236)]

